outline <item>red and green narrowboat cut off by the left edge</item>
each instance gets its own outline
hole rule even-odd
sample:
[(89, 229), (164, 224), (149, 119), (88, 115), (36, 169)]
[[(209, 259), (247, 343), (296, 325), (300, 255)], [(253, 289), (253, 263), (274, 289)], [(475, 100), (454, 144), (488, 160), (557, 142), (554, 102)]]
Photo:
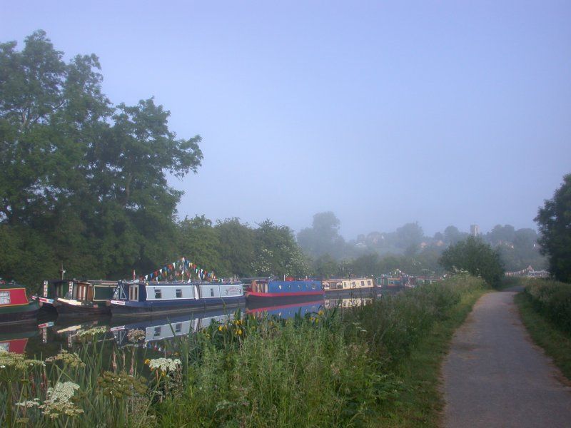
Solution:
[(38, 310), (38, 302), (28, 300), (25, 287), (0, 280), (0, 323), (36, 320)]

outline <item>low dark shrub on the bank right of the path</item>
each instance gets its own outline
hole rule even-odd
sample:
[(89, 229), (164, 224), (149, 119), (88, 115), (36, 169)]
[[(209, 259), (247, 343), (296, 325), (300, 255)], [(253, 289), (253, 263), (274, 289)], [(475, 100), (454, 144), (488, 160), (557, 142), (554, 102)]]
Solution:
[(529, 280), (525, 295), (537, 312), (561, 330), (571, 333), (571, 284), (553, 280)]

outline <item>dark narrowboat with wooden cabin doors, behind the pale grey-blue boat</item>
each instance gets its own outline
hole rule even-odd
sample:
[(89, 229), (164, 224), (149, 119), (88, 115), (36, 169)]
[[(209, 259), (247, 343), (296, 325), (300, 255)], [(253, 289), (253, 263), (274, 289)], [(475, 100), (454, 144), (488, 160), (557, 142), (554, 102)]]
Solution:
[(116, 287), (117, 281), (69, 281), (66, 295), (56, 299), (58, 315), (111, 315), (109, 300), (113, 297)]

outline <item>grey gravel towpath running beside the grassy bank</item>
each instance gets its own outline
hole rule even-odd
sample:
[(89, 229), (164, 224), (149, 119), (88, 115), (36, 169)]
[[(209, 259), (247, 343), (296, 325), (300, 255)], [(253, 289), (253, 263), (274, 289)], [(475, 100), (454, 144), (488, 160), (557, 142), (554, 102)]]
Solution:
[(480, 298), (443, 365), (445, 427), (571, 427), (571, 383), (533, 345), (515, 292)]

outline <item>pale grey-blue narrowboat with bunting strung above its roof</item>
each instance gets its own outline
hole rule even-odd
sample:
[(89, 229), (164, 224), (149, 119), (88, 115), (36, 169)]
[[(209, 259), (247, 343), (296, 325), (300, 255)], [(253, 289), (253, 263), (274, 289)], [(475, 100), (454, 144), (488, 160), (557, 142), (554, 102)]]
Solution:
[(245, 302), (243, 284), (232, 282), (120, 281), (111, 315), (153, 315), (159, 312), (231, 307)]

